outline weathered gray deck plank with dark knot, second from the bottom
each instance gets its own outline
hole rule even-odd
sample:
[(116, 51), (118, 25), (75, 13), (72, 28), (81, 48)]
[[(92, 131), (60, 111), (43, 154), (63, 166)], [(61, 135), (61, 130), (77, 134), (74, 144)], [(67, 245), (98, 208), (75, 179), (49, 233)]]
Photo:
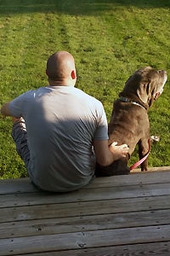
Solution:
[(119, 230), (98, 230), (0, 240), (0, 255), (39, 253), (89, 247), (110, 247), (144, 242), (170, 241), (170, 225)]

